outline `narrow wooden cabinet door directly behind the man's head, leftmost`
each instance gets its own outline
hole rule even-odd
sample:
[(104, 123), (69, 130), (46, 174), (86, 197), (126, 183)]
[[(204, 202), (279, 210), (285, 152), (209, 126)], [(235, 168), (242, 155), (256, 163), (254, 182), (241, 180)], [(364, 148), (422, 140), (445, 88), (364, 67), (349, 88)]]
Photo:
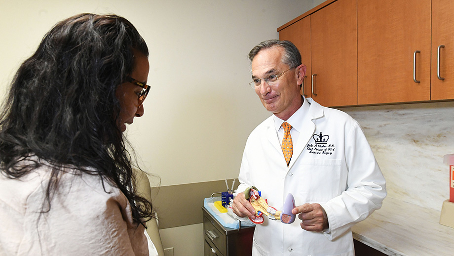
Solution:
[[(301, 94), (304, 97), (311, 97), (310, 88), (310, 16), (307, 16), (291, 26), (279, 31), (279, 40), (291, 41), (298, 47), (301, 53), (301, 60), (306, 65), (306, 75), (303, 80)], [(307, 79), (309, 76), (309, 79)]]

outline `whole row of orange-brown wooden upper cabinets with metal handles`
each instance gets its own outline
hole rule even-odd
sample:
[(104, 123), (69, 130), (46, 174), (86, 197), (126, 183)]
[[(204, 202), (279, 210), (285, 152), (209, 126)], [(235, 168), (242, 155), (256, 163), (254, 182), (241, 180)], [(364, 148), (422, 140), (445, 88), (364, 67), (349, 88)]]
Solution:
[(322, 105), (452, 100), (452, 13), (453, 0), (328, 0), (278, 32), (300, 48), (304, 94)]

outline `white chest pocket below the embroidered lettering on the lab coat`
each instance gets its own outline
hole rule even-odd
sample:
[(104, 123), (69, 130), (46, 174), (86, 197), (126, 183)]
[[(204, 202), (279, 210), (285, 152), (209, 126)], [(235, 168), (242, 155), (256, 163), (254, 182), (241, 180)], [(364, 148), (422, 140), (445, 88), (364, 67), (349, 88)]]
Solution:
[(312, 158), (300, 163), (299, 191), (307, 203), (325, 203), (340, 194), (340, 165), (340, 159)]

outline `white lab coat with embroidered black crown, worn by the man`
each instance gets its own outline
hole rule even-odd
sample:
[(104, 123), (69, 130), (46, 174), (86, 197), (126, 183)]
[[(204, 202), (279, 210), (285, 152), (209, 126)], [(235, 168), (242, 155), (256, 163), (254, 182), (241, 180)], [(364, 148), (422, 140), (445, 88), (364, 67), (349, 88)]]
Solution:
[(249, 135), (238, 191), (254, 185), (277, 210), (288, 193), (297, 206), (319, 203), (327, 213), (330, 232), (305, 231), (298, 217), (292, 224), (265, 217), (255, 229), (253, 256), (354, 256), (350, 228), (381, 207), (386, 196), (384, 177), (354, 119), (311, 98), (304, 100), (303, 107), (308, 109), (301, 120), (304, 128), (293, 141), (289, 167), (271, 116)]

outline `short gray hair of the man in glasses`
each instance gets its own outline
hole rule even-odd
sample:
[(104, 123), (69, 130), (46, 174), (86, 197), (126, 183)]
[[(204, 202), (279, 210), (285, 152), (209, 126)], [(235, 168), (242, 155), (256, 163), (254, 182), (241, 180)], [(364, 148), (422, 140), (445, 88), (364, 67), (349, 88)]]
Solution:
[(288, 65), (290, 68), (296, 68), (301, 65), (301, 54), (297, 46), (290, 41), (280, 41), (277, 39), (267, 40), (257, 44), (248, 54), (249, 60), (252, 62), (254, 57), (261, 51), (273, 47), (284, 48), (282, 55), (282, 63)]

